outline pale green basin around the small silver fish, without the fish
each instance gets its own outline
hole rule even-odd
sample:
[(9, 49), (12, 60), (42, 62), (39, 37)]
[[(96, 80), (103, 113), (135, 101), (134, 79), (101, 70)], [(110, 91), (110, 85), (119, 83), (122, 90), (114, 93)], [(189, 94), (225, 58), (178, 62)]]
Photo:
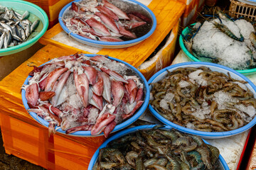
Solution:
[[(43, 11), (43, 9), (40, 8), (39, 6), (36, 6), (35, 4), (32, 4), (28, 1), (21, 0), (1, 0), (0, 6), (14, 8), (14, 11), (28, 11), (29, 13), (32, 13), (33, 15), (37, 16), (43, 23), (42, 30), (34, 38), (31, 38), (31, 40), (27, 40), (26, 42), (23, 42), (22, 44), (16, 45), (14, 47), (0, 49), (0, 56), (11, 55), (16, 52), (25, 50), (28, 47), (31, 47), (31, 45), (36, 43), (43, 36), (43, 34), (46, 33), (46, 30), (49, 25), (48, 16), (46, 15), (46, 12)], [(28, 18), (28, 20), (30, 20), (30, 18)]]

